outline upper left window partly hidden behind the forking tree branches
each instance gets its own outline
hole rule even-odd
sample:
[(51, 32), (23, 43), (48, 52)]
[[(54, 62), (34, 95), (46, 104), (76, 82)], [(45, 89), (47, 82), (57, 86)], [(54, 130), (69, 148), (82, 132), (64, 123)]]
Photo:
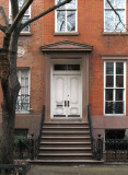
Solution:
[[(19, 0), (19, 10), (23, 5), (25, 0)], [(27, 20), (31, 19), (31, 8), (28, 8), (23, 16), (22, 23), (25, 23)], [(12, 13), (11, 13), (11, 3), (9, 5), (9, 22), (12, 23)], [(30, 25), (25, 26), (22, 32), (30, 32)]]

